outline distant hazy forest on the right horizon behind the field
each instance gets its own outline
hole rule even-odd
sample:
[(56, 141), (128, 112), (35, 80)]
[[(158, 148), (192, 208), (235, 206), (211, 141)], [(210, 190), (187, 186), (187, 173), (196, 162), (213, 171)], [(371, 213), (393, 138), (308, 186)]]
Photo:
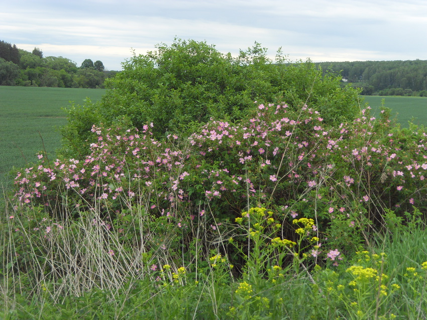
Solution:
[(427, 60), (316, 63), (339, 73), (364, 95), (427, 96)]

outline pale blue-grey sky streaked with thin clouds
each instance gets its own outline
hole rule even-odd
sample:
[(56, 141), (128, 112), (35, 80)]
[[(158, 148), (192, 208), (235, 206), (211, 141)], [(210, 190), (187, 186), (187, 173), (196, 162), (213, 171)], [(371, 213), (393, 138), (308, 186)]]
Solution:
[(0, 40), (109, 70), (175, 37), (233, 55), (257, 41), (292, 61), (426, 60), (426, 31), (425, 0), (15, 0), (0, 12)]

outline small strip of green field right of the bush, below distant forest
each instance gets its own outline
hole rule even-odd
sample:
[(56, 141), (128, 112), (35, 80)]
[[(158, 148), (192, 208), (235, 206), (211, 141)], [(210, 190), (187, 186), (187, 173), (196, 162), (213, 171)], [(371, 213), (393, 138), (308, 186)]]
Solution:
[[(375, 96), (365, 95), (365, 102), (372, 108), (372, 115), (379, 117), (382, 99), (384, 106), (392, 110), (392, 116), (403, 127), (408, 127), (408, 121), (415, 125), (427, 126), (427, 98), (416, 96)], [(414, 118), (414, 120), (412, 119)]]

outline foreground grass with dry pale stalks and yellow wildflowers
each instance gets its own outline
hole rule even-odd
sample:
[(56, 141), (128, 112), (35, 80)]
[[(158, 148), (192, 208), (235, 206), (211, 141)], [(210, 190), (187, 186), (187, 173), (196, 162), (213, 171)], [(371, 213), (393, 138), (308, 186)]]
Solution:
[[(148, 252), (145, 245), (154, 239), (140, 231), (141, 224), (149, 223), (144, 206), (133, 212), (128, 229), (132, 232), (128, 236), (139, 243), (133, 250), (124, 250), (118, 233), (108, 232), (110, 226), (101, 222), (104, 213), (98, 205), (81, 212), (76, 221), (63, 221), (57, 228), (37, 233), (29, 221), (40, 218), (42, 212), (37, 208), (17, 211), (6, 200), (9, 205), (1, 218), (0, 235), (0, 316), (5, 319), (427, 316), (427, 233), (419, 221), (377, 234), (372, 247), (361, 249), (339, 267), (311, 269), (312, 265), (295, 260), (300, 256), (292, 249), (289, 268), (270, 265), (264, 269), (260, 268), (265, 265), (262, 259), (269, 258), (253, 251), (243, 274), (236, 276), (235, 266), (222, 254), (229, 235), (219, 233), (212, 239), (207, 254), (195, 249), (196, 268), (183, 265), (185, 259), (164, 251), (161, 244), (157, 252)], [(261, 211), (253, 211), (254, 223)], [(201, 239), (207, 236), (200, 225), (193, 227)], [(264, 239), (251, 237), (249, 230), (252, 246), (262, 246)], [(17, 254), (23, 244), (26, 252)], [(292, 268), (295, 263), (299, 266)], [(355, 266), (359, 273), (352, 271)], [(363, 272), (373, 272), (373, 276)]]

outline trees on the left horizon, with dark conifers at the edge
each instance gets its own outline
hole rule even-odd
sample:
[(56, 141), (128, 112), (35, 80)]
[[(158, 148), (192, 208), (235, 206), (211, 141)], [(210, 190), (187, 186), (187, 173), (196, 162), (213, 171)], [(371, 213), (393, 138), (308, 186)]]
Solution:
[(43, 57), (39, 48), (29, 52), (0, 41), (0, 85), (103, 88), (117, 72), (105, 70), (99, 60), (86, 59), (77, 67), (64, 57)]

